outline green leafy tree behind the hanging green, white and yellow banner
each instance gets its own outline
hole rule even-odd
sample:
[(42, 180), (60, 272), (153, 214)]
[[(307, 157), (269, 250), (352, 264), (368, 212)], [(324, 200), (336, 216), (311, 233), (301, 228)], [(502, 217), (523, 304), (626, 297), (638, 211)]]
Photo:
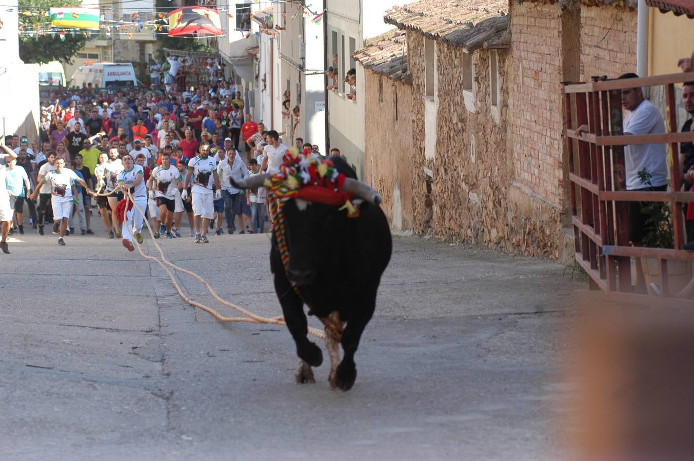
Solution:
[[(35, 26), (41, 29), (49, 28), (51, 18), (37, 17), (40, 11), (49, 12), (51, 6), (81, 6), (82, 0), (19, 0), (19, 24), (22, 31), (33, 31)], [(22, 15), (22, 11), (30, 11), (31, 16)], [(72, 62), (74, 55), (83, 49), (87, 42), (84, 31), (65, 33), (65, 40), (58, 34), (34, 35), (23, 33), (19, 35), (19, 57), (24, 62), (43, 64), (49, 61)]]

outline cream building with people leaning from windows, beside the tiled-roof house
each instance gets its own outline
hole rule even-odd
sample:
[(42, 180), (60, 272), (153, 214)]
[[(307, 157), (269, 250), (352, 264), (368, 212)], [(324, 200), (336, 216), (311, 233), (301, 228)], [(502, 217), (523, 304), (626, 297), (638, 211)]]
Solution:
[[(328, 66), (332, 67), (332, 57), (337, 55), (337, 86), (328, 92), (326, 112), (328, 113), (328, 145), (339, 148), (347, 162), (364, 176), (365, 149), (365, 105), (360, 98), (359, 87), (364, 87), (364, 68), (357, 66), (353, 58), (356, 50), (364, 46), (369, 38), (389, 31), (393, 26), (384, 24), (384, 13), (396, 5), (410, 3), (411, 0), (326, 0), (325, 12), (328, 33)], [(345, 75), (350, 69), (357, 72), (356, 100), (347, 98), (351, 88)]]

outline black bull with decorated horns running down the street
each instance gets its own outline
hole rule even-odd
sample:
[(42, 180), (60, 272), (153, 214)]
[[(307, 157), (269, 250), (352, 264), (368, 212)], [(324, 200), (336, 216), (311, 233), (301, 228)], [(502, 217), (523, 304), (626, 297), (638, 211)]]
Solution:
[[(325, 345), (330, 354), (331, 387), (349, 390), (357, 378), (354, 355), (373, 315), (392, 241), (386, 217), (377, 205), (380, 195), (357, 182), (355, 173), (342, 159), (330, 159), (340, 173), (354, 180), (350, 183), (355, 186), (356, 195), (365, 199), (359, 207), (359, 216), (350, 218), (346, 210), (331, 205), (288, 200), (283, 211), (289, 270), (285, 272), (282, 266), (274, 234), (270, 268), (300, 358), (296, 381), (314, 382), (311, 367), (323, 363), (321, 349), (307, 338), (305, 302), (310, 315), (346, 323), (340, 340), (344, 351), (342, 360), (339, 360), (339, 344), (327, 329)], [(250, 183), (244, 180), (239, 186), (250, 186)], [(347, 184), (344, 189), (348, 189)], [(291, 282), (298, 287), (301, 297)]]

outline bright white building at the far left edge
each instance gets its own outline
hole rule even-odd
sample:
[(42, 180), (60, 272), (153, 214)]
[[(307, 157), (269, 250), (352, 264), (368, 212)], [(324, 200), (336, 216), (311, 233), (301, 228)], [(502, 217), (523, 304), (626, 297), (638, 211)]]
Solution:
[(0, 8), (0, 136), (26, 135), (38, 140), (39, 78), (38, 66), (19, 59), (17, 0), (8, 0)]

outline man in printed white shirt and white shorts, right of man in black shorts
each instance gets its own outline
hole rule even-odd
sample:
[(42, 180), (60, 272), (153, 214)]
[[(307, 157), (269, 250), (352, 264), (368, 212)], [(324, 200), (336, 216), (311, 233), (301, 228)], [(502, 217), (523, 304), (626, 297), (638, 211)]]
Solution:
[[(210, 144), (203, 143), (200, 155), (188, 163), (188, 175), (185, 177), (181, 198), (187, 198), (187, 188), (193, 183), (193, 220), (195, 223), (195, 243), (208, 243), (210, 220), (214, 219), (214, 200), (221, 198), (217, 162), (210, 157)], [(212, 193), (212, 180), (216, 191)]]

